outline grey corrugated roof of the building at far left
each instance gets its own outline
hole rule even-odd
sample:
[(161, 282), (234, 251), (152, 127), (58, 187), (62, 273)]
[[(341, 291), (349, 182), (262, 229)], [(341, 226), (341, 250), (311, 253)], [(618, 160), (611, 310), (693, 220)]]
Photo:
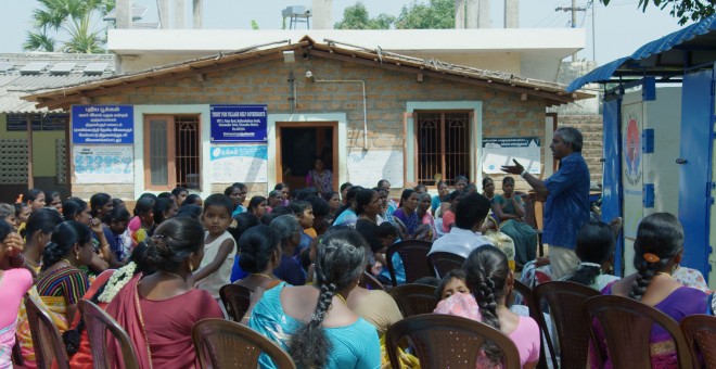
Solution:
[[(114, 55), (112, 54), (66, 54), (66, 53), (4, 53), (0, 62), (13, 66), (0, 73), (0, 113), (26, 114), (46, 113), (47, 109), (37, 109), (35, 103), (22, 98), (31, 93), (57, 89), (64, 86), (85, 84), (114, 75)], [(75, 63), (68, 74), (50, 74), (53, 65)], [(44, 72), (36, 75), (21, 75), (20, 69), (30, 63), (48, 63)], [(82, 71), (89, 63), (107, 63), (108, 71), (103, 75), (84, 75)]]

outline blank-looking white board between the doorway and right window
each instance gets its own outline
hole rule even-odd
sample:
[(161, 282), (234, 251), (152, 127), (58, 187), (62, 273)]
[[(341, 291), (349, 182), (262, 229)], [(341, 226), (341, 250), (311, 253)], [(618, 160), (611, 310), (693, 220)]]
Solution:
[(348, 180), (355, 186), (373, 188), (387, 179), (402, 188), (402, 151), (356, 151), (348, 154)]

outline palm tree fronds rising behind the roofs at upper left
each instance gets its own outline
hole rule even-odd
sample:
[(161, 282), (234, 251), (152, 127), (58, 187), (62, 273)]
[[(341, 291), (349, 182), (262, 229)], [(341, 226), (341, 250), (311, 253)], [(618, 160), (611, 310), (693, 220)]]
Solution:
[[(102, 17), (115, 7), (115, 0), (38, 0), (33, 11), (34, 30), (23, 43), (26, 51), (63, 51), (101, 53), (106, 42), (106, 27)], [(67, 39), (57, 40), (57, 36)]]

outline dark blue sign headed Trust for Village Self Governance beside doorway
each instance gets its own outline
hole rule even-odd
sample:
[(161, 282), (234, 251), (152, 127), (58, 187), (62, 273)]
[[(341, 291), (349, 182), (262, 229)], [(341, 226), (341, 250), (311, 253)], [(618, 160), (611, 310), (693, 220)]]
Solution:
[(212, 142), (267, 142), (266, 105), (210, 105)]

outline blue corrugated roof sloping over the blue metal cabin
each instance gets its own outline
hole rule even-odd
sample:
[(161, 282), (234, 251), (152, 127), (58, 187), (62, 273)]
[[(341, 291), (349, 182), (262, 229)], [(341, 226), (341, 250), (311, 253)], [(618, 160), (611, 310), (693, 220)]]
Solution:
[[(699, 47), (695, 40), (700, 36), (707, 35), (712, 31), (716, 30), (716, 15), (712, 15), (699, 23), (694, 23), (688, 27), (685, 27), (682, 29), (679, 29), (675, 33), (672, 33), (669, 35), (666, 35), (660, 39), (653, 40), (641, 48), (637, 49), (631, 55), (625, 56), (617, 59), (611, 63), (604, 64), (590, 73), (573, 80), (570, 86), (567, 86), (566, 90), (567, 91), (576, 91), (577, 89), (581, 88), (583, 86), (591, 82), (600, 82), (600, 81), (608, 81), (612, 76), (615, 75), (615, 73), (619, 69), (622, 69), (623, 66), (625, 66), (625, 69), (647, 69), (644, 65), (635, 65), (631, 66), (629, 65), (631, 62), (638, 62), (642, 61), (645, 59), (650, 59), (654, 55), (662, 54), (665, 52), (668, 52), (674, 49), (681, 49), (681, 47), (685, 47), (685, 44), (689, 43), (689, 46)], [(694, 44), (691, 44), (694, 43)], [(707, 43), (709, 43), (709, 47), (713, 49), (714, 43), (712, 42), (711, 39), (707, 40)], [(685, 47), (683, 49), (689, 49), (688, 47)], [(664, 64), (666, 65), (666, 64)], [(654, 61), (653, 65), (651, 67), (659, 67), (657, 61)], [(668, 64), (668, 66), (673, 69), (675, 65)]]

